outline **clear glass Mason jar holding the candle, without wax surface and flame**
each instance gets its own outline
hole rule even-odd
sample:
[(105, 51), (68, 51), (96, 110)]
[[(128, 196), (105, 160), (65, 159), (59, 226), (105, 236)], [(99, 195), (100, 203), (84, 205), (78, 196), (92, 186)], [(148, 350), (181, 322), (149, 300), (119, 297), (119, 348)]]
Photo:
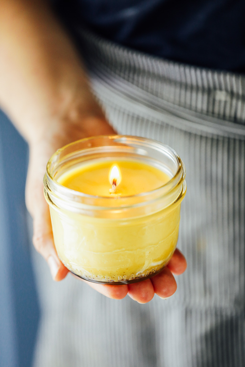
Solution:
[[(165, 172), (165, 185), (138, 195), (100, 197), (58, 183), (65, 172), (102, 160), (133, 160)], [(185, 167), (169, 146), (131, 136), (86, 138), (58, 149), (47, 164), (44, 196), (54, 244), (62, 263), (96, 283), (147, 279), (169, 262), (176, 248)]]

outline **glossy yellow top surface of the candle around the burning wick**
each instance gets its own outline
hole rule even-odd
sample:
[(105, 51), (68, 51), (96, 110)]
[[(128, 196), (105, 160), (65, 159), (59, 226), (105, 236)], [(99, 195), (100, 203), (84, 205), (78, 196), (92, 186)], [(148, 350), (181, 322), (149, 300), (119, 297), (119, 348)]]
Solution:
[(109, 197), (111, 183), (109, 172), (116, 165), (121, 173), (121, 181), (115, 195), (131, 196), (157, 189), (169, 181), (163, 171), (138, 161), (97, 161), (84, 164), (63, 174), (58, 182), (69, 189), (89, 195)]

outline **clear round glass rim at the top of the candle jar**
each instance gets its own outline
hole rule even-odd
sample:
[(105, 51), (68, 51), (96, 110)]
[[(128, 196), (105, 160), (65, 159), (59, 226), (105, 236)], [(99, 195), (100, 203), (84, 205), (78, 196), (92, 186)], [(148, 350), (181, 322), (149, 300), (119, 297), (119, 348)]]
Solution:
[[(109, 141), (116, 141), (116, 142), (120, 142), (120, 143), (124, 143), (126, 144), (128, 143), (133, 143), (139, 146), (151, 146), (151, 148), (155, 148), (157, 150), (165, 150), (165, 152), (167, 152), (169, 155), (171, 155), (171, 157), (175, 160), (176, 162), (176, 172), (173, 175), (172, 178), (170, 178), (169, 181), (167, 181), (166, 183), (164, 183), (163, 185), (161, 185), (159, 188), (153, 189), (153, 190), (149, 190), (147, 192), (142, 192), (142, 193), (138, 193), (136, 195), (129, 195), (129, 196), (123, 196), (123, 197), (110, 197), (110, 196), (99, 196), (99, 195), (90, 195), (90, 194), (86, 194), (83, 192), (79, 192), (73, 189), (69, 189), (63, 185), (61, 185), (55, 178), (54, 178), (54, 162), (57, 161), (58, 156), (61, 155), (61, 153), (64, 153), (66, 149), (72, 149), (72, 147), (75, 148), (75, 146), (79, 145), (79, 144), (83, 144), (86, 145), (87, 143), (87, 147), (84, 147), (82, 149), (79, 149), (78, 151), (89, 151), (89, 149), (91, 149), (91, 145), (90, 142), (93, 140), (102, 140), (102, 142), (109, 142)], [(101, 145), (103, 147), (107, 146), (107, 145)], [(100, 146), (97, 146), (96, 148), (99, 148)], [(74, 150), (75, 152), (75, 150)], [(53, 167), (52, 167), (53, 165)], [(120, 202), (120, 206), (113, 206), (111, 207), (110, 205), (104, 205), (103, 207), (108, 209), (113, 209), (116, 210), (117, 208), (120, 208), (120, 210), (122, 209), (122, 207), (124, 207), (123, 205), (123, 201), (129, 201), (129, 200), (139, 200), (140, 203), (142, 203), (142, 201), (144, 200), (149, 202), (150, 198), (155, 198), (158, 199), (159, 197), (161, 197), (162, 195), (168, 195), (173, 189), (177, 188), (177, 186), (183, 186), (183, 183), (185, 184), (185, 166), (183, 161), (181, 160), (180, 156), (176, 153), (176, 151), (174, 149), (172, 149), (170, 146), (163, 144), (159, 141), (153, 140), (153, 139), (149, 139), (149, 138), (143, 138), (143, 137), (137, 137), (137, 136), (131, 136), (131, 135), (98, 135), (98, 136), (93, 136), (93, 137), (88, 137), (88, 138), (83, 138), (80, 139), (78, 141), (69, 143), (65, 146), (63, 146), (62, 148), (56, 150), (56, 152), (50, 157), (50, 159), (48, 160), (47, 163), (47, 167), (46, 167), (46, 174), (44, 175), (44, 191), (46, 190), (46, 192), (48, 193), (52, 193), (54, 197), (58, 197), (60, 196), (60, 198), (62, 197), (62, 199), (64, 200), (65, 197), (67, 196), (67, 198), (69, 197), (71, 199), (71, 197), (73, 198), (73, 200), (78, 199), (78, 201), (80, 201), (82, 199), (87, 199), (89, 201), (93, 201), (93, 200), (102, 200), (103, 203), (112, 203), (112, 202), (116, 202), (119, 201)], [(149, 200), (147, 200), (147, 197), (149, 198)], [(142, 200), (141, 200), (142, 199)], [(53, 202), (53, 200), (51, 200)], [(137, 204), (140, 204), (137, 202)], [(53, 202), (53, 204), (55, 204)], [(119, 204), (119, 203), (118, 203)], [(131, 206), (135, 206), (136, 203), (133, 204), (127, 204), (126, 207), (129, 208)], [(101, 209), (103, 209), (103, 207), (101, 207)], [(96, 206), (97, 209), (98, 206)]]

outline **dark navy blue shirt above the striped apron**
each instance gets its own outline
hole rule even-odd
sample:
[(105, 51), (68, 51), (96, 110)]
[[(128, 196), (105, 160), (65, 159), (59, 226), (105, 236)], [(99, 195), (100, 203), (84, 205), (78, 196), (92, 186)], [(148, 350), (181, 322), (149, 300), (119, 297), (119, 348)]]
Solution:
[(57, 1), (63, 18), (166, 59), (245, 72), (245, 0)]

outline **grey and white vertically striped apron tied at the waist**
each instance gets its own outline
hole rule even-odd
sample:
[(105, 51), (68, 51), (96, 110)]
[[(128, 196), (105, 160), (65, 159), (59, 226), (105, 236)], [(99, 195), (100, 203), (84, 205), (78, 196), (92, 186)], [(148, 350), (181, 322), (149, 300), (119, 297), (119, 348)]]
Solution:
[[(120, 134), (172, 146), (187, 170), (170, 299), (107, 299), (37, 259), (35, 367), (245, 366), (245, 77), (171, 63), (82, 33), (94, 92)], [(37, 255), (35, 255), (37, 257)]]

